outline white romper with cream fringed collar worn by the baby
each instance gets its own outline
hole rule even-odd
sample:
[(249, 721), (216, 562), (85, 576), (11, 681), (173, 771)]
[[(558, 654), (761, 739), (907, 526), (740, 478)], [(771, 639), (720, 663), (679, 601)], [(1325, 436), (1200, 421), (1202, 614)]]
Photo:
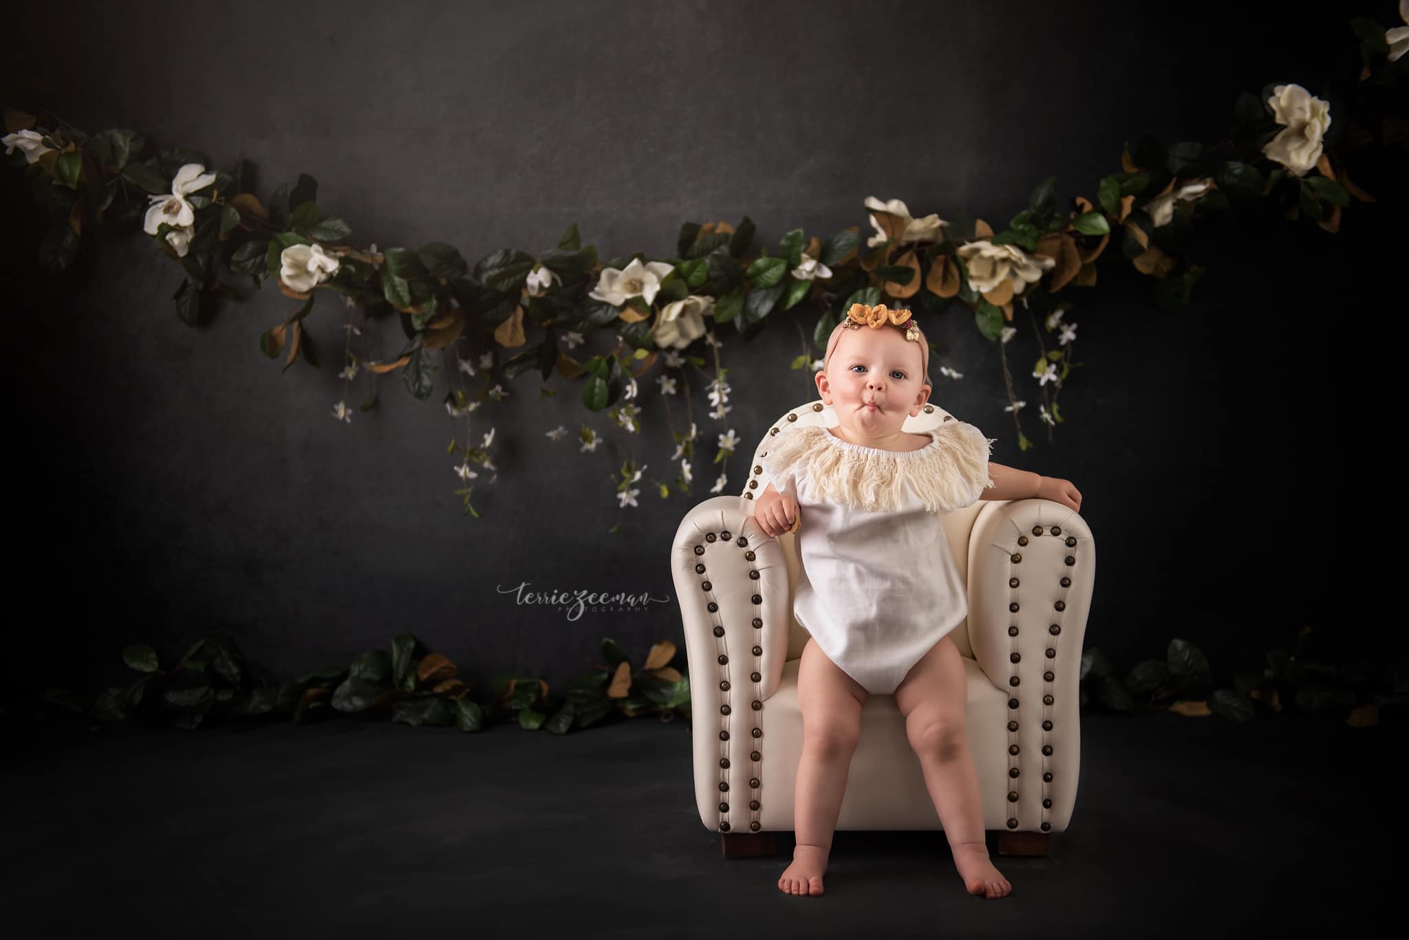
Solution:
[[(816, 424), (779, 431), (759, 462), (797, 500), (793, 613), (827, 658), (890, 695), (967, 614), (937, 513), (972, 506), (992, 440), (958, 420), (917, 451), (861, 447)], [(995, 438), (996, 440), (996, 438)]]

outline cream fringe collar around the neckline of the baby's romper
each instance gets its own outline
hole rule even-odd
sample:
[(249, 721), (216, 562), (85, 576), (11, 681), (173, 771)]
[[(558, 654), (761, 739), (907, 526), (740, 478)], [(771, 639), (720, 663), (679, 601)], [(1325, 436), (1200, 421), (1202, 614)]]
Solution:
[(986, 486), (988, 455), (993, 441), (965, 421), (944, 421), (927, 434), (931, 441), (917, 451), (883, 451), (833, 435), (826, 427), (805, 424), (783, 433), (768, 448), (775, 468), (796, 465), (810, 495), (867, 512), (898, 512), (910, 503), (913, 490), (929, 512), (972, 506)]

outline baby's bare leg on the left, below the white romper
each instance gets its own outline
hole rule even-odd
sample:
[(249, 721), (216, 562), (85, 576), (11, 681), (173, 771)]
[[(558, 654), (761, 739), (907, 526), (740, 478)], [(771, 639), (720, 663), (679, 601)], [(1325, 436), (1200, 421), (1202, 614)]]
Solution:
[(831, 834), (841, 813), (847, 771), (861, 734), (861, 705), (869, 693), (812, 638), (797, 664), (797, 705), (802, 709), (802, 760), (793, 796), (797, 846), (793, 861), (778, 879), (789, 895), (820, 895), (821, 875), (831, 854)]

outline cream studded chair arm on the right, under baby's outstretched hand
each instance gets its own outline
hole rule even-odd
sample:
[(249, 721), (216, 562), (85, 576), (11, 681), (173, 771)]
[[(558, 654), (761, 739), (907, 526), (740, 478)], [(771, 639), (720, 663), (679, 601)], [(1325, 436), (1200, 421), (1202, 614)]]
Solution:
[(1062, 831), (1071, 817), (1081, 768), (1082, 640), (1095, 581), (1095, 540), (1075, 510), (1014, 499), (975, 517), (969, 644), (979, 668), (1009, 696), (1007, 720), (1017, 722), (1005, 733), (1019, 748), (1009, 751), (1009, 769), (1020, 771), (1010, 784), (1022, 799), (1010, 812), (1023, 830)]

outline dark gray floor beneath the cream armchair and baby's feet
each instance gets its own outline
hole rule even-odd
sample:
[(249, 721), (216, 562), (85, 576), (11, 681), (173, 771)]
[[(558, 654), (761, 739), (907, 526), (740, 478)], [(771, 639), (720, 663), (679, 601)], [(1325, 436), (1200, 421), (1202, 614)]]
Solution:
[(938, 831), (837, 833), (827, 893), (790, 898), (790, 833), (724, 860), (700, 823), (683, 722), (7, 738), (4, 923), (48, 937), (1354, 932), (1388, 908), (1405, 792), (1398, 727), (1086, 716), (1071, 829), (1048, 858), (993, 853), (1009, 898), (965, 895)]

